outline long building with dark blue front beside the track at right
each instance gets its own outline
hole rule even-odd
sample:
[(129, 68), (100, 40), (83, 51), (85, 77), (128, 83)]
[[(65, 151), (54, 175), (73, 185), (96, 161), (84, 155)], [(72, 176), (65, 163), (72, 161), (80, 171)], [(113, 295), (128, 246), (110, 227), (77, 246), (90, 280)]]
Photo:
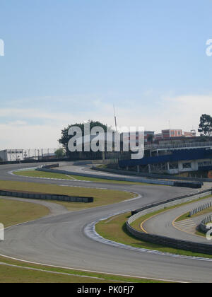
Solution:
[[(170, 133), (170, 130), (167, 132)], [(160, 139), (160, 136), (156, 134), (155, 139)], [(120, 161), (119, 167), (136, 168), (147, 173), (209, 172), (212, 170), (212, 137), (205, 139), (192, 135), (158, 140), (145, 146), (144, 158)]]

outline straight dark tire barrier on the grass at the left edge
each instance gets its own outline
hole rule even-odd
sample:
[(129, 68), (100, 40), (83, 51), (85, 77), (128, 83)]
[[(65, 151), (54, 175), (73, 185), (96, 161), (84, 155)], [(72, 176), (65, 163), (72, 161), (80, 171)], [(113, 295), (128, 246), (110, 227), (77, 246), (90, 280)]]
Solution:
[(26, 199), (54, 200), (54, 201), (63, 201), (63, 202), (83, 202), (83, 203), (93, 202), (93, 197), (71, 197), (71, 196), (59, 195), (59, 194), (43, 194), (43, 193), (7, 191), (7, 190), (0, 190), (0, 196), (18, 197), (18, 198), (26, 198)]

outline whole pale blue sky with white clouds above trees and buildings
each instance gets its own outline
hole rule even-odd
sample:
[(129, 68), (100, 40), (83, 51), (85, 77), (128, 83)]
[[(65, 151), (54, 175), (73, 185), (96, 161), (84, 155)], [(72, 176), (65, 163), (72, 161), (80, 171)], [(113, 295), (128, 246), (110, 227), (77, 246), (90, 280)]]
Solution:
[(212, 0), (1, 0), (0, 149), (57, 148), (68, 124), (113, 126), (113, 105), (119, 127), (198, 129), (211, 12)]

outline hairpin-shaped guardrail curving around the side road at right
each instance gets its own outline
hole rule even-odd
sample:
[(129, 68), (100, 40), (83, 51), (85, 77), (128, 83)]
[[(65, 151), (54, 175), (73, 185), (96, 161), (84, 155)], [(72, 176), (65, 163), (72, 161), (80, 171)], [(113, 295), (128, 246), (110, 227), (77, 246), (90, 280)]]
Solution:
[[(205, 191), (204, 191), (205, 192)], [(209, 191), (207, 191), (209, 192)], [(211, 190), (210, 190), (211, 192)], [(161, 235), (153, 235), (149, 233), (144, 233), (143, 231), (137, 231), (133, 227), (131, 227), (131, 223), (136, 221), (136, 219), (141, 218), (141, 216), (145, 216), (146, 214), (150, 214), (152, 212), (165, 209), (169, 206), (177, 205), (177, 204), (182, 204), (184, 202), (189, 202), (193, 201), (195, 199), (199, 199), (199, 197), (202, 197), (204, 193), (199, 193), (196, 195), (193, 195), (192, 197), (187, 197), (184, 199), (178, 198), (178, 201), (172, 201), (172, 202), (163, 202), (163, 204), (152, 204), (151, 206), (145, 206), (143, 207), (143, 210), (134, 214), (134, 216), (131, 216), (129, 220), (126, 222), (126, 229), (131, 233), (131, 235), (134, 235), (136, 238), (139, 238), (141, 240), (150, 242), (150, 243), (155, 243), (157, 245), (163, 245), (167, 246), (170, 248), (177, 248), (177, 249), (182, 249), (182, 250), (189, 250), (192, 252), (199, 252), (203, 254), (208, 254), (212, 255), (212, 246), (206, 243), (193, 243), (191, 241), (187, 240), (178, 240), (175, 238), (168, 238), (165, 236)], [(156, 206), (155, 206), (156, 205)]]

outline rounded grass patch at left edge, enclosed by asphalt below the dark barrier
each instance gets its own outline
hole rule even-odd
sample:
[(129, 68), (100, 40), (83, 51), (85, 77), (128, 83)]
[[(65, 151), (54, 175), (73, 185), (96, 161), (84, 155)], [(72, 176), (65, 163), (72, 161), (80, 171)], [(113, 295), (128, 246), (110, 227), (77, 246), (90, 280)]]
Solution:
[(0, 222), (5, 227), (33, 221), (49, 214), (47, 207), (29, 202), (0, 199)]

